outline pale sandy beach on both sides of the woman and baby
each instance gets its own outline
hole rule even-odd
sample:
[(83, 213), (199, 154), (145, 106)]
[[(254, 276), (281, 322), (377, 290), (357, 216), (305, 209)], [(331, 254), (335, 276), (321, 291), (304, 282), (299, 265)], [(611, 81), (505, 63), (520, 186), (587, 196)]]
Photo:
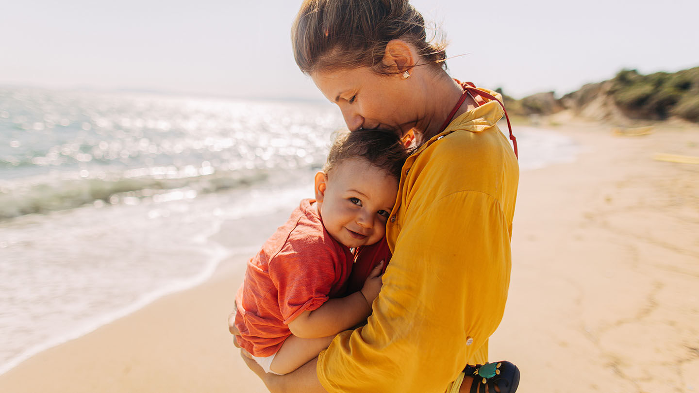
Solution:
[[(491, 359), (522, 372), (519, 392), (699, 391), (699, 127), (542, 126), (573, 138), (577, 160), (522, 171), (507, 310)], [(516, 132), (516, 128), (515, 128)], [(245, 238), (260, 245), (288, 212)], [(0, 392), (266, 392), (226, 319), (250, 255), (0, 376)]]

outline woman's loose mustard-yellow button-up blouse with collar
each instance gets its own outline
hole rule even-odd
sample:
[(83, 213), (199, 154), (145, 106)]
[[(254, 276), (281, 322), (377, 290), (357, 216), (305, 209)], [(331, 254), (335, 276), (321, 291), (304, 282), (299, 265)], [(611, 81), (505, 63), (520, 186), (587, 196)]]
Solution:
[(484, 103), (405, 162), (373, 314), (319, 355), (328, 392), (442, 393), (466, 364), (487, 361), (510, 285), (519, 180), (502, 116)]

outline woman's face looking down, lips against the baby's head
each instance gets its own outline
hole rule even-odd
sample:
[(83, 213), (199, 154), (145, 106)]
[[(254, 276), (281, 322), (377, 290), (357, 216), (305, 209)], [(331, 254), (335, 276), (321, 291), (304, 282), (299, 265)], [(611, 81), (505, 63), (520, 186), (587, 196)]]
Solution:
[(403, 136), (419, 117), (409, 106), (413, 101), (410, 82), (401, 75), (383, 76), (362, 67), (317, 71), (311, 78), (323, 95), (340, 107), (350, 131), (396, 129)]

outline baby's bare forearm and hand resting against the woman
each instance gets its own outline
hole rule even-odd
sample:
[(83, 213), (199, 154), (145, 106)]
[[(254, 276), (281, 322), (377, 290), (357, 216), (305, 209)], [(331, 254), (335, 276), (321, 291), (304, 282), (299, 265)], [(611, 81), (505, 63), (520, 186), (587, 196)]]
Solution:
[(361, 291), (329, 299), (319, 308), (298, 315), (289, 322), (291, 333), (301, 338), (333, 336), (366, 320), (371, 313), (371, 303), (381, 289), (382, 266), (383, 262), (374, 267)]

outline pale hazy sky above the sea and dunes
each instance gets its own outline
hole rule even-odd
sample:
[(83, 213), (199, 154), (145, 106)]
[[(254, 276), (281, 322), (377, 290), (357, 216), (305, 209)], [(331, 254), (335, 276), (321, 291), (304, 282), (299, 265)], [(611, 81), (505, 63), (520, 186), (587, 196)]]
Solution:
[[(300, 0), (22, 0), (0, 12), (0, 85), (323, 99), (291, 54)], [(516, 98), (617, 71), (699, 66), (696, 0), (413, 0), (449, 73)]]

